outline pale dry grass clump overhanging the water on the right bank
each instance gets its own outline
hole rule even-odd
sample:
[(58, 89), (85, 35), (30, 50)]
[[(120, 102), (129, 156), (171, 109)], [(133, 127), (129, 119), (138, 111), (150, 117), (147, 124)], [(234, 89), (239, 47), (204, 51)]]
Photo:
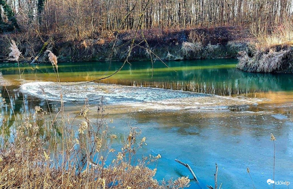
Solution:
[(252, 54), (240, 51), (237, 68), (248, 72), (293, 72), (293, 21), (268, 27), (261, 23), (251, 26), (256, 42)]

